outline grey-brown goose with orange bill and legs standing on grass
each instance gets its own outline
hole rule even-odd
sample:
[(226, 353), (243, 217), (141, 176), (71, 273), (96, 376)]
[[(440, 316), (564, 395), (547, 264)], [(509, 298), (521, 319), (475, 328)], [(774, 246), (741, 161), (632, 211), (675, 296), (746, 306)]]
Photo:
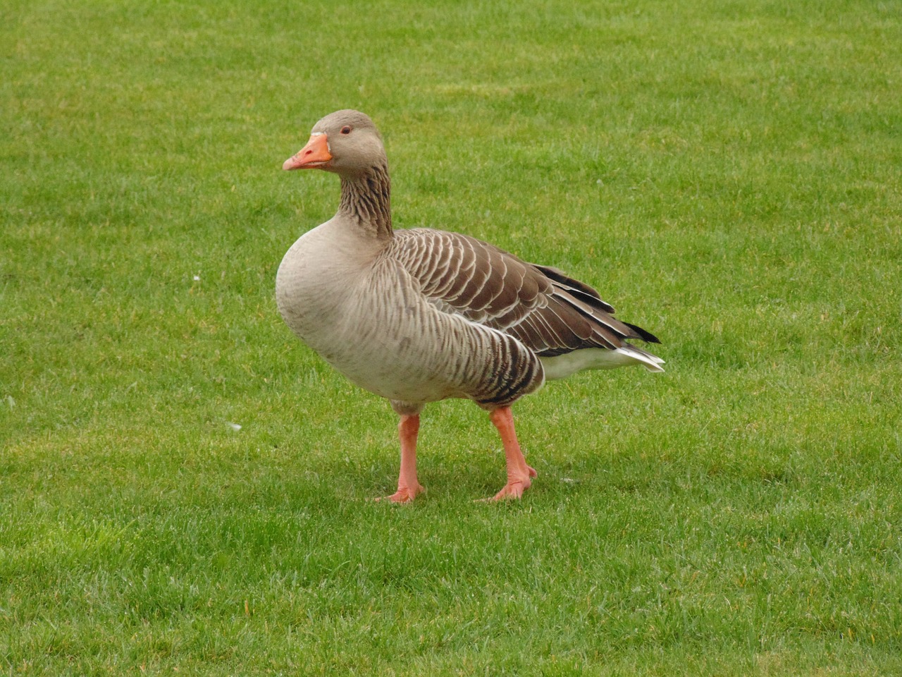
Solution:
[(323, 117), (282, 169), (341, 179), (336, 215), (282, 258), (276, 301), (309, 348), (400, 416), (398, 490), (384, 499), (408, 503), (424, 490), (417, 436), (426, 403), (467, 398), (489, 413), (507, 483), (487, 500), (520, 498), (536, 470), (517, 441), (512, 403), (584, 369), (663, 371), (660, 357), (627, 342), (658, 338), (615, 319), (588, 284), (471, 236), (392, 228), (382, 136), (364, 113)]

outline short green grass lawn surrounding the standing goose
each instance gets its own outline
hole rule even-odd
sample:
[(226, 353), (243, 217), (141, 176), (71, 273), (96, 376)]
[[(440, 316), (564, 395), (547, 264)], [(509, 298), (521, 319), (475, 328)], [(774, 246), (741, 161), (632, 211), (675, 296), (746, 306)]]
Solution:
[[(6, 2), (0, 670), (902, 672), (900, 10)], [(339, 107), (664, 341), (518, 404), (518, 504), (460, 402), (366, 502), (395, 417), (281, 323)]]

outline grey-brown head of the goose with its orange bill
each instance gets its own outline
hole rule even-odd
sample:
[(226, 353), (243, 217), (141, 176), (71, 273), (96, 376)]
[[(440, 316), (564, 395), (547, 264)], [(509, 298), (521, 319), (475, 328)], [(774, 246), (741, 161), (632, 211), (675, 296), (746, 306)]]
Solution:
[(321, 169), (353, 179), (386, 164), (382, 136), (373, 120), (348, 109), (330, 113), (313, 125), (307, 145), (282, 169)]

